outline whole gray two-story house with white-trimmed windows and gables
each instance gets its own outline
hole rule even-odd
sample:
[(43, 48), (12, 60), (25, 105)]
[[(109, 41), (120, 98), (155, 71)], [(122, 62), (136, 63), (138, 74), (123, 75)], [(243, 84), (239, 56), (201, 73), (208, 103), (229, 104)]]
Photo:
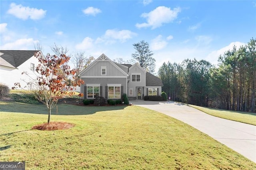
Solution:
[(102, 54), (79, 76), (84, 80), (81, 93), (85, 99), (97, 95), (106, 99), (121, 99), (126, 93), (129, 99), (144, 99), (145, 95), (161, 95), (162, 81), (145, 71), (138, 63), (119, 64)]

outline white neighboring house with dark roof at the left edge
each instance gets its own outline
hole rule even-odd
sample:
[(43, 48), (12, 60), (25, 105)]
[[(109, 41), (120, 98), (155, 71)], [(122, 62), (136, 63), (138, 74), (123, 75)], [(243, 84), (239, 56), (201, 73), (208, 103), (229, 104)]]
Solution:
[[(36, 67), (39, 64), (34, 56), (36, 52), (36, 50), (0, 50), (0, 83), (7, 85), (10, 89), (17, 82), (24, 89), (34, 88), (32, 83), (36, 80), (38, 74)], [(41, 51), (38, 52), (41, 57), (44, 57)], [(29, 76), (22, 75), (24, 71)]]

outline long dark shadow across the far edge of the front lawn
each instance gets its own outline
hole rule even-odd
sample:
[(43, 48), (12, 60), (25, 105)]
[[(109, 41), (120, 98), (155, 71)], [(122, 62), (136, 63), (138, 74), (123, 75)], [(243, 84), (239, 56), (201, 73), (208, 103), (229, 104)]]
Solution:
[[(113, 111), (122, 110), (124, 106), (79, 106), (79, 105), (68, 105), (60, 104), (52, 109), (51, 115), (91, 115), (101, 111)], [(48, 109), (45, 105), (33, 105), (26, 103), (8, 102), (8, 104), (0, 105), (0, 110), (3, 112), (14, 112), (14, 113), (33, 113), (48, 115)]]

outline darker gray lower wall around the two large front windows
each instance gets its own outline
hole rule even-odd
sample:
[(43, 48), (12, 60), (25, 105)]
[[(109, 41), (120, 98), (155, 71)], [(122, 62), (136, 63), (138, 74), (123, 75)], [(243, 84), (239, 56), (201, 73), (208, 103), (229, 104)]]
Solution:
[[(81, 92), (85, 95), (86, 91), (85, 91), (85, 86), (87, 86), (87, 84), (89, 85), (100, 85), (102, 86), (102, 93), (100, 93), (100, 96), (105, 97), (106, 99), (108, 98), (106, 96), (106, 86), (108, 86), (108, 84), (121, 84), (121, 86), (123, 86), (123, 93), (127, 93), (127, 86), (126, 86), (126, 78), (120, 78), (120, 77), (82, 77), (82, 80), (84, 80), (84, 84), (81, 85)], [(84, 98), (84, 97), (83, 97)]]

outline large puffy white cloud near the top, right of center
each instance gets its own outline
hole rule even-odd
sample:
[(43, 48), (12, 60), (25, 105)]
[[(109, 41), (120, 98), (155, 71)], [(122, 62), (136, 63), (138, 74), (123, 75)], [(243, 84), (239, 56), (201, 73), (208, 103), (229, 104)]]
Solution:
[(150, 11), (149, 13), (143, 13), (141, 17), (146, 18), (147, 22), (142, 24), (137, 23), (136, 27), (152, 27), (152, 29), (158, 28), (162, 26), (162, 24), (174, 21), (177, 18), (179, 12), (181, 12), (179, 7), (171, 10), (165, 6), (158, 6), (156, 9)]

